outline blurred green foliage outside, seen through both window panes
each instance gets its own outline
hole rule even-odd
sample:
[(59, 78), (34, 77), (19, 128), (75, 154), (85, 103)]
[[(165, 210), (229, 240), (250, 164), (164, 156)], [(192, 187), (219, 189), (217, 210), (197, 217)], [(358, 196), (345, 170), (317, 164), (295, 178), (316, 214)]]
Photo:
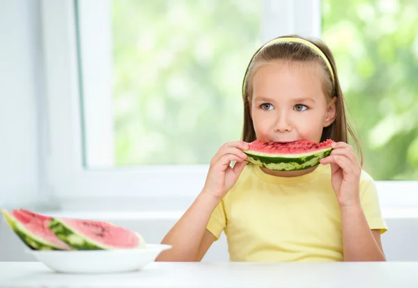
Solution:
[[(262, 1), (113, 3), (116, 166), (208, 163), (238, 140)], [(418, 179), (418, 1), (323, 0), (323, 40), (375, 179)]]

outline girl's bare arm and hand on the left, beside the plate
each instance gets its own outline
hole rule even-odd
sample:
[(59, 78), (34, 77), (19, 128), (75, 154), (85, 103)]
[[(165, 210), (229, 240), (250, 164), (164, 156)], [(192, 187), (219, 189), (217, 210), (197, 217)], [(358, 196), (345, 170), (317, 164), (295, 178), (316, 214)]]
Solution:
[[(225, 143), (219, 148), (210, 161), (203, 191), (162, 239), (161, 243), (173, 248), (162, 252), (156, 261), (190, 262), (203, 258), (215, 241), (215, 236), (206, 230), (210, 216), (247, 164), (247, 154), (242, 152), (247, 149), (247, 143), (242, 141)], [(231, 161), (236, 161), (233, 168)]]

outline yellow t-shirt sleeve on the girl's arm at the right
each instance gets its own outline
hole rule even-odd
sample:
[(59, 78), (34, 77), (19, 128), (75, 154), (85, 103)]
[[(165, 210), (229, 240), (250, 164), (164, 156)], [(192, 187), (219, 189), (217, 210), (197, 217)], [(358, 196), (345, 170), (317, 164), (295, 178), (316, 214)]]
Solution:
[(366, 216), (370, 229), (380, 229), (380, 234), (383, 234), (387, 231), (387, 224), (382, 217), (376, 183), (367, 173), (364, 173), (364, 177), (362, 178), (360, 182), (360, 201), (364, 215)]

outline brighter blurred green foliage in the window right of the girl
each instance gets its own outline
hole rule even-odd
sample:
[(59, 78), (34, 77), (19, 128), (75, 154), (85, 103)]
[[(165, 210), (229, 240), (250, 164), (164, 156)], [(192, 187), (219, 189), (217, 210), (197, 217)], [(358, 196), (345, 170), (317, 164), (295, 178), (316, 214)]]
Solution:
[(322, 6), (322, 38), (336, 58), (364, 169), (375, 179), (418, 179), (418, 1)]

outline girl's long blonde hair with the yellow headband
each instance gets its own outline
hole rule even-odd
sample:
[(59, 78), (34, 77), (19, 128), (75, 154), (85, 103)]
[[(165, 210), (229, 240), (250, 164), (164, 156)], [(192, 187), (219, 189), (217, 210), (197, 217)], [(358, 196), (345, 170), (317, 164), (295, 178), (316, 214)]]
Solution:
[[(283, 38), (283, 39), (282, 39)], [(286, 38), (286, 39), (284, 39)], [(336, 65), (332, 52), (321, 40), (302, 38), (299, 35), (285, 35), (270, 40), (260, 47), (251, 57), (242, 81), (242, 101), (244, 102), (244, 127), (242, 140), (256, 140), (256, 132), (251, 120), (250, 104), (253, 94), (252, 78), (263, 64), (270, 61), (285, 61), (286, 63), (318, 63), (324, 71), (324, 90), (328, 100), (336, 97), (336, 118), (328, 127), (324, 127), (320, 141), (332, 139), (336, 142), (348, 143), (348, 136), (353, 138), (359, 158), (363, 163), (362, 149), (353, 127), (348, 123), (346, 115), (346, 100), (339, 83)]]

